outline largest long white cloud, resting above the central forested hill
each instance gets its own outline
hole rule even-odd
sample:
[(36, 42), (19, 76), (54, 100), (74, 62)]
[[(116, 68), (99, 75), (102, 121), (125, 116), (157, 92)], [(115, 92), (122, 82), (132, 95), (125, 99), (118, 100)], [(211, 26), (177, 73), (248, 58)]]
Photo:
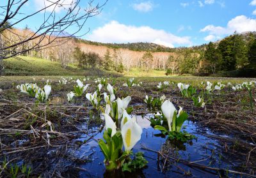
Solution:
[(148, 26), (126, 26), (117, 21), (111, 21), (95, 29), (88, 36), (88, 40), (102, 43), (152, 42), (168, 47), (173, 47), (175, 44), (191, 45), (188, 36), (175, 36), (164, 30), (152, 29)]

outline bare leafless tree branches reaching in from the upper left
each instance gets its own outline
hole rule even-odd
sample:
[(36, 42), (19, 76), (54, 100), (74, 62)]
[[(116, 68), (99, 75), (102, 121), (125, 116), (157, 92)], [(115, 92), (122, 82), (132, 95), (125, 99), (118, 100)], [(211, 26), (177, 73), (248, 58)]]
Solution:
[[(42, 50), (57, 40), (57, 44), (60, 45), (72, 37), (77, 37), (86, 20), (98, 15), (107, 1), (99, 4), (93, 0), (40, 0), (38, 2), (41, 3), (41, 8), (24, 14), (21, 12), (31, 0), (5, 0), (1, 3), (4, 5), (0, 6), (0, 75), (3, 74), (3, 59), (31, 50)], [(12, 29), (21, 22), (29, 22), (33, 17), (38, 17), (40, 24), (35, 31), (29, 31), (22, 36)], [(75, 31), (71, 34), (66, 33), (70, 27), (74, 27)], [(6, 32), (12, 36), (6, 35)], [(30, 43), (31, 41), (33, 43)]]

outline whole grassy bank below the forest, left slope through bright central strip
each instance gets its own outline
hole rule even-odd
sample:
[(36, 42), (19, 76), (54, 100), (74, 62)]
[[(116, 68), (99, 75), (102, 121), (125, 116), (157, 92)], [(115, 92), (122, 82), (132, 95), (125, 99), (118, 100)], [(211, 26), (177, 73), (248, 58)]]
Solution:
[(4, 75), (20, 75), (20, 76), (109, 76), (109, 75), (124, 75), (126, 77), (163, 77), (166, 76), (164, 70), (146, 71), (141, 68), (132, 68), (124, 73), (116, 73), (113, 71), (104, 71), (97, 69), (81, 69), (74, 64), (69, 64), (67, 68), (62, 68), (58, 62), (52, 62), (36, 57), (19, 56), (19, 58), (11, 58), (4, 60)]

